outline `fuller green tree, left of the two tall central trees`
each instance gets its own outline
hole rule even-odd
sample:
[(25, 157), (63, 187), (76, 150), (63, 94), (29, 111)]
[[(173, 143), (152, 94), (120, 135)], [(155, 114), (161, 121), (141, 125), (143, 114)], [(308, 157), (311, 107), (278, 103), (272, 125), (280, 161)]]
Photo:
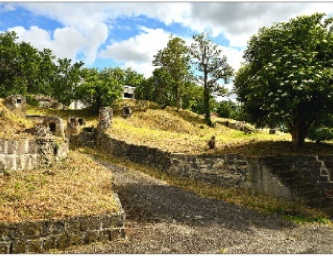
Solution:
[(181, 98), (191, 77), (189, 61), (188, 48), (179, 37), (170, 36), (167, 46), (154, 56), (153, 65), (163, 67), (163, 83), (167, 93), (174, 97), (177, 109), (182, 107)]

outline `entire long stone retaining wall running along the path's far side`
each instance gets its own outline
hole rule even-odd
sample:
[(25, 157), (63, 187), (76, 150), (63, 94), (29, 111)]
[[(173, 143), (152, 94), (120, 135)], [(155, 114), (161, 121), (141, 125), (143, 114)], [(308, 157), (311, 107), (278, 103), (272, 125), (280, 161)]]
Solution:
[(305, 200), (310, 204), (333, 204), (333, 155), (246, 157), (239, 154), (171, 154), (156, 148), (127, 144), (98, 132), (81, 133), (75, 137), (74, 144), (93, 146), (107, 154), (171, 175), (225, 187), (245, 187), (261, 194)]

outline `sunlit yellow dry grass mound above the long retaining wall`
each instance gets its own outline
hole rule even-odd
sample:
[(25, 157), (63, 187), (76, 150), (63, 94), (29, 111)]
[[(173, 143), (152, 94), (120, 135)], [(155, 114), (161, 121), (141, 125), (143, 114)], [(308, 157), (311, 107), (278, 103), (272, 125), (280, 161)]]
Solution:
[(149, 109), (133, 112), (130, 118), (115, 116), (107, 131), (112, 138), (135, 145), (147, 145), (167, 152), (209, 152), (207, 142), (216, 137), (216, 152), (239, 151), (240, 145), (253, 141), (290, 141), (290, 135), (270, 135), (268, 132), (244, 134), (217, 123), (214, 128), (204, 123), (202, 116), (187, 110)]

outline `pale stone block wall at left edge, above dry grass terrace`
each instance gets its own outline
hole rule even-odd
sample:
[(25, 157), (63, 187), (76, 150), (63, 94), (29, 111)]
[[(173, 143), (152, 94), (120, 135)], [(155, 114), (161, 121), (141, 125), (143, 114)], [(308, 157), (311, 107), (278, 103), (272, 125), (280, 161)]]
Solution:
[(0, 138), (0, 174), (40, 168), (67, 156), (68, 143), (54, 139)]

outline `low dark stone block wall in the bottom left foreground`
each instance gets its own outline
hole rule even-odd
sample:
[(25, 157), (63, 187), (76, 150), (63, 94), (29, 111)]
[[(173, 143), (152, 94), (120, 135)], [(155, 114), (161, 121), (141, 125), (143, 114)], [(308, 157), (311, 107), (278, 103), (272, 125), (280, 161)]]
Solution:
[(0, 223), (0, 253), (43, 253), (71, 245), (123, 239), (124, 212), (95, 217), (72, 217)]

